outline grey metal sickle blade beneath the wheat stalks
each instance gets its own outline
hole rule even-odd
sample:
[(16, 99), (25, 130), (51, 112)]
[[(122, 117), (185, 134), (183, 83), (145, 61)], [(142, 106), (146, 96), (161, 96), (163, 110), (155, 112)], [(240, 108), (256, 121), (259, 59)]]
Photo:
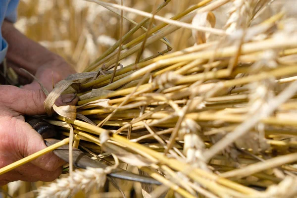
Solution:
[[(49, 147), (55, 143), (58, 143), (60, 140), (56, 139), (46, 139), (45, 143)], [(53, 150), (53, 153), (63, 159), (66, 162), (69, 162), (69, 148), (68, 145), (62, 146), (60, 148), (57, 148)], [(87, 156), (83, 151), (81, 151), (78, 148), (73, 148), (73, 165), (80, 167), (80, 168), (87, 168), (87, 167), (93, 167), (93, 168), (106, 168), (107, 165), (102, 164), (99, 161), (95, 161), (91, 159), (89, 156)], [(117, 168), (112, 173), (108, 174), (110, 177), (113, 178), (119, 178), (123, 180), (129, 180), (129, 181), (135, 181), (135, 182), (141, 182), (141, 183), (147, 183), (147, 184), (155, 184), (155, 185), (161, 185), (160, 182), (156, 181), (155, 179), (151, 177), (146, 177), (142, 175), (137, 175), (132, 172), (128, 172), (126, 170)]]

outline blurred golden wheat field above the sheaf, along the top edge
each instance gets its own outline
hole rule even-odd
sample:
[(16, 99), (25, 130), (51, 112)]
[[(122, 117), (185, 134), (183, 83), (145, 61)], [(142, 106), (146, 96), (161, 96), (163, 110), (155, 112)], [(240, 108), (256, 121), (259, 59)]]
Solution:
[[(154, 2), (154, 0), (123, 0), (124, 5), (146, 12), (152, 11)], [(162, 0), (156, 0), (156, 4), (160, 2)], [(170, 18), (198, 2), (199, 0), (171, 0), (158, 15)], [(96, 3), (85, 0), (21, 0), (18, 15), (15, 25), (21, 32), (63, 56), (74, 65), (77, 72), (82, 72), (88, 64), (120, 38), (120, 17)], [(137, 23), (144, 18), (125, 11), (123, 15)], [(216, 11), (216, 15), (219, 15), (217, 26), (227, 19), (227, 15), (223, 12)], [(155, 21), (154, 25), (159, 23)], [(124, 19), (123, 34), (134, 26)], [(143, 30), (138, 30), (126, 43), (143, 33)], [(167, 39), (174, 51), (194, 45), (191, 30), (178, 30)], [(164, 49), (166, 46), (157, 42), (149, 46), (143, 56), (147, 57)], [(135, 57), (125, 59), (121, 64), (125, 66)]]

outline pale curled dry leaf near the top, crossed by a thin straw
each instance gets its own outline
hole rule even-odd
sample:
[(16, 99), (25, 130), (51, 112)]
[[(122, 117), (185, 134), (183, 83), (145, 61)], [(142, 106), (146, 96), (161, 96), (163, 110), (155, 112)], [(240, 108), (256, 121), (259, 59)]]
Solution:
[[(213, 28), (215, 26), (215, 15), (211, 11), (197, 13), (192, 20), (192, 25)], [(196, 44), (199, 45), (206, 43), (207, 39), (210, 36), (210, 33), (192, 30), (192, 35), (196, 40)]]

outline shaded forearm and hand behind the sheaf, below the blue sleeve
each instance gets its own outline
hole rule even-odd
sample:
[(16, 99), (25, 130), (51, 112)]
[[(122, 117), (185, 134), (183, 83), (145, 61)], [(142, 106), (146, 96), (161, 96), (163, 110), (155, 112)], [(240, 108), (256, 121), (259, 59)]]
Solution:
[[(8, 43), (7, 65), (19, 75), (28, 77), (19, 70), (24, 68), (35, 75), (48, 91), (51, 91), (52, 82), (55, 84), (70, 74), (76, 73), (62, 57), (28, 39), (12, 23), (4, 20), (1, 31), (2, 37)], [(40, 89), (40, 86), (34, 81), (24, 88), (36, 90)]]

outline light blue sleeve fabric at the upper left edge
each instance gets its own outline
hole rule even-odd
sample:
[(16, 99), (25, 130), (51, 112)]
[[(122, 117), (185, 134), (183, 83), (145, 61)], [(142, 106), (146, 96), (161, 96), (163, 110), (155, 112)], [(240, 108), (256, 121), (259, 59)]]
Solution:
[[(2, 26), (4, 19), (15, 22), (17, 18), (17, 5), (19, 0), (0, 0), (0, 24)], [(8, 44), (2, 38), (0, 31), (0, 62), (3, 61), (7, 52)]]

